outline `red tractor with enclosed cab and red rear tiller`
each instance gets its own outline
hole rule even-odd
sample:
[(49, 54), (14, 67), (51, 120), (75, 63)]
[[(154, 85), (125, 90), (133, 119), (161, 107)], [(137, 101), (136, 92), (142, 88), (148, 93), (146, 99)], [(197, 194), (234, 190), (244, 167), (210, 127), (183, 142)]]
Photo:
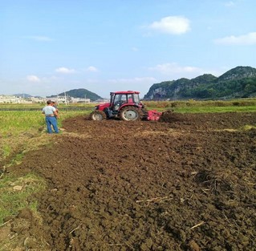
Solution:
[(92, 120), (118, 118), (130, 120), (158, 120), (162, 115), (157, 111), (146, 111), (140, 102), (139, 91), (116, 91), (110, 93), (110, 103), (101, 103), (91, 112)]

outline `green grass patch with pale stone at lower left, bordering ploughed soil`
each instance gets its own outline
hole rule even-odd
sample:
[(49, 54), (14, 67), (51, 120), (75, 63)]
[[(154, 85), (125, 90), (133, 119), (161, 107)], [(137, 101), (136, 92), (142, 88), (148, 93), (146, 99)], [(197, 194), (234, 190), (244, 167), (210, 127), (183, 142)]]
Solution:
[[(0, 180), (0, 225), (5, 217), (17, 215), (22, 208), (30, 208), (36, 212), (37, 201), (32, 198), (32, 195), (43, 191), (45, 187), (45, 181), (32, 173), (21, 177), (2, 176)], [(30, 198), (29, 201), (28, 198)]]

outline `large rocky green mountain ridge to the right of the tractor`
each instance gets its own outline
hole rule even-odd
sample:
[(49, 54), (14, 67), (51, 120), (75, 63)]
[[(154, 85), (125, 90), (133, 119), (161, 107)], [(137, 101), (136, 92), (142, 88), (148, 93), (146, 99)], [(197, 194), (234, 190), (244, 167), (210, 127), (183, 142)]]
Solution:
[(144, 99), (233, 99), (253, 96), (256, 96), (256, 69), (240, 66), (219, 77), (204, 74), (194, 79), (154, 83)]

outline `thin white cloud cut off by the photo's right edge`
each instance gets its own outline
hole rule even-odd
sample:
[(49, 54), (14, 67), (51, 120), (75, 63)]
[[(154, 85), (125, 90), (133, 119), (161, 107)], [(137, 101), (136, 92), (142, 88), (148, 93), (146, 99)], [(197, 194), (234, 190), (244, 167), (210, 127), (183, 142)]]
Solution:
[(231, 35), (225, 38), (217, 38), (214, 43), (223, 45), (255, 45), (256, 44), (256, 32), (250, 32), (248, 34), (242, 34), (241, 36)]

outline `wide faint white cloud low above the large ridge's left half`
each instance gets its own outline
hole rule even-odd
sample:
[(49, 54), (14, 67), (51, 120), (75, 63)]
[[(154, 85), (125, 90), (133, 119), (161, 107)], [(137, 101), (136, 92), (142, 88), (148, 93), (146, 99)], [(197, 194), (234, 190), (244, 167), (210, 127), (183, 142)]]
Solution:
[(197, 67), (181, 67), (177, 63), (163, 63), (158, 64), (156, 67), (149, 67), (151, 71), (158, 71), (164, 75), (174, 75), (174, 74), (202, 74), (201, 68)]

